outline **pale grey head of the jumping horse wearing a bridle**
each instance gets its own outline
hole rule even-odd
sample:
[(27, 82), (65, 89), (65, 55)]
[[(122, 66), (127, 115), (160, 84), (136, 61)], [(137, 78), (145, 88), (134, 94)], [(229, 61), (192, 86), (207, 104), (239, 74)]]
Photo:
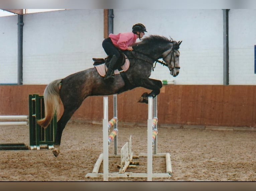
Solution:
[(182, 41), (173, 42), (173, 45), (170, 49), (166, 50), (163, 55), (163, 61), (166, 63), (167, 67), (170, 70), (170, 74), (173, 77), (178, 76), (179, 74), (179, 45)]

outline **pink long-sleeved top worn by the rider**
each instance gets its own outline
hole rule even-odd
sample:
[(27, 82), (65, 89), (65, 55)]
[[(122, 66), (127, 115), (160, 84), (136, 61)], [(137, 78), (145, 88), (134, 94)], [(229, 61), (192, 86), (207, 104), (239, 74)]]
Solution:
[(128, 46), (131, 46), (136, 42), (137, 35), (133, 32), (119, 33), (117, 35), (109, 34), (113, 45), (121, 50), (126, 50)]

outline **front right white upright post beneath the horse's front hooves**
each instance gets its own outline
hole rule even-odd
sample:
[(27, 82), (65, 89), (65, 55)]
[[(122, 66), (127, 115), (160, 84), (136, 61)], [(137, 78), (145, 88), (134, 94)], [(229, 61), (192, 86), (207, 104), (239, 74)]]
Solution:
[(152, 124), (153, 124), (153, 97), (148, 97), (148, 124), (147, 124), (147, 181), (152, 181)]

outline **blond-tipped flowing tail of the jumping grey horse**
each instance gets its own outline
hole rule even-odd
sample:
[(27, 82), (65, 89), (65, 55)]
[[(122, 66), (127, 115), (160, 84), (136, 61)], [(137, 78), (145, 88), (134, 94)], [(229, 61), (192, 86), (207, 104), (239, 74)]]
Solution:
[(42, 127), (47, 127), (52, 120), (54, 112), (59, 113), (60, 108), (60, 96), (59, 96), (59, 87), (61, 79), (54, 80), (48, 84), (44, 90), (44, 113), (45, 117), (37, 120), (37, 123)]

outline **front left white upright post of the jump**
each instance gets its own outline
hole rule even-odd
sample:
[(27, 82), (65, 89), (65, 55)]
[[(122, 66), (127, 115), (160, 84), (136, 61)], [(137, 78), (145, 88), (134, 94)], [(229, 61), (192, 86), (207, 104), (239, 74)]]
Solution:
[(103, 106), (103, 181), (108, 181), (108, 96), (104, 96)]

